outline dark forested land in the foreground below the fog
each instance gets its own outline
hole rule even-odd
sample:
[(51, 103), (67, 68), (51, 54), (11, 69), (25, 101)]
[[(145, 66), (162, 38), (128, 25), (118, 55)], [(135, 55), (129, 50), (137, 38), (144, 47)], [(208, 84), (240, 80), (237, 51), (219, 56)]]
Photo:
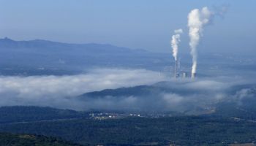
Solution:
[[(237, 112), (233, 106), (223, 106), (213, 115), (165, 118), (103, 118), (105, 115), (101, 113), (98, 118), (80, 118), (86, 112), (49, 107), (1, 107), (0, 120), (4, 122), (0, 123), (0, 132), (59, 137), (81, 145), (226, 146), (236, 142), (255, 142), (255, 118), (247, 116), (249, 114), (244, 109), (244, 112)], [(54, 119), (53, 115), (59, 120), (50, 120)], [(74, 117), (70, 118), (70, 115)]]

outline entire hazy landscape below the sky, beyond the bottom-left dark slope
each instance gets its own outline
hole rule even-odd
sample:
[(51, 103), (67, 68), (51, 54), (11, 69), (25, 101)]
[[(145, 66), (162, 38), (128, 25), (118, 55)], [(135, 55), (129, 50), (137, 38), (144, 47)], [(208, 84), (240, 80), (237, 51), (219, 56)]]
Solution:
[[(2, 132), (59, 137), (81, 145), (255, 140), (255, 68), (249, 67), (254, 58), (208, 53), (201, 58), (196, 80), (173, 79), (174, 63), (165, 53), (42, 40), (0, 42), (5, 54)], [(188, 72), (189, 60), (182, 63)]]

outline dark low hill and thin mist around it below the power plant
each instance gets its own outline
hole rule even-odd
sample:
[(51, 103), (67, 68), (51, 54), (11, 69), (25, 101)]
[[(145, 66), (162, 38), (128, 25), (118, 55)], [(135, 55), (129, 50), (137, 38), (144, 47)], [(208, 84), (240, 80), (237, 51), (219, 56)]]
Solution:
[(84, 106), (102, 110), (132, 110), (147, 112), (183, 112), (202, 114), (213, 112), (222, 101), (237, 101), (237, 92), (244, 80), (214, 77), (200, 80), (169, 80), (150, 86), (138, 86), (114, 91), (102, 91), (81, 97)]

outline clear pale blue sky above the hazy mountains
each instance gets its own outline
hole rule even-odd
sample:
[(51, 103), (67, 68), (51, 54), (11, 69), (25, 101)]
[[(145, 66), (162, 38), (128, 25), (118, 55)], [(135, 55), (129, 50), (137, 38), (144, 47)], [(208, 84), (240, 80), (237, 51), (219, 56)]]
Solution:
[(189, 50), (187, 15), (204, 6), (228, 10), (205, 28), (200, 51), (256, 49), (255, 0), (0, 0), (0, 37), (169, 52), (173, 30), (183, 28), (182, 52)]

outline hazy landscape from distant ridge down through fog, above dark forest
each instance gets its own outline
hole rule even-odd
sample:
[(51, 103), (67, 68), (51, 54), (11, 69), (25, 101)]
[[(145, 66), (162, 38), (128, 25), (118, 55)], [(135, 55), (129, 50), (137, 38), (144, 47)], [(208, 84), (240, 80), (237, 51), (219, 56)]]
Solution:
[[(256, 62), (242, 58), (246, 54), (206, 53), (200, 58), (198, 79), (192, 81), (173, 79), (174, 62), (166, 53), (43, 40), (0, 42), (5, 54), (0, 61), (2, 106), (139, 111), (154, 107), (151, 110), (184, 112), (197, 108), (198, 101), (202, 102), (198, 107), (208, 108), (213, 106), (208, 104), (235, 100), (255, 84), (255, 68), (249, 66)], [(189, 72), (189, 59), (181, 60), (180, 66)]]

